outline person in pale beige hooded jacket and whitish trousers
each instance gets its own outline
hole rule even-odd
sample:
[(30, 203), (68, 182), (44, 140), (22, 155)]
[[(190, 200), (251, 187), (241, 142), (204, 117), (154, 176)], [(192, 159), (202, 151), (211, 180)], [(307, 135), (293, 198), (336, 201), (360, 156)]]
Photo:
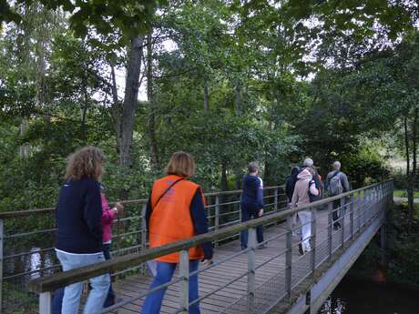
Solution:
[[(302, 169), (298, 175), (298, 181), (295, 184), (294, 193), (291, 200), (291, 208), (297, 208), (301, 205), (310, 204), (310, 194), (317, 196), (319, 190), (313, 180), (313, 171), (310, 168)], [(312, 238), (312, 212), (310, 210), (301, 210), (298, 212), (298, 218), (301, 221), (301, 243), (299, 245), (301, 255), (312, 250), (310, 239)]]

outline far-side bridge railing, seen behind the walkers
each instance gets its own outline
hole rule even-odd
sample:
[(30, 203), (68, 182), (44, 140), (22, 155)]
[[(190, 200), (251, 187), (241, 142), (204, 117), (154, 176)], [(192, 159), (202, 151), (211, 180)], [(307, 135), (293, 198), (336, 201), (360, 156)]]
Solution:
[[(282, 187), (265, 187), (268, 212), (287, 204)], [(240, 222), (241, 190), (206, 193), (210, 230), (219, 230)], [(124, 256), (147, 248), (145, 208), (147, 199), (122, 201), (124, 216), (115, 220), (112, 256)], [(112, 204), (112, 203), (111, 203)], [(29, 280), (56, 274), (54, 237), (55, 208), (40, 208), (0, 213), (0, 313), (37, 313), (37, 298), (28, 292)], [(237, 235), (220, 238), (221, 245)], [(120, 269), (114, 277), (144, 272), (145, 265)]]

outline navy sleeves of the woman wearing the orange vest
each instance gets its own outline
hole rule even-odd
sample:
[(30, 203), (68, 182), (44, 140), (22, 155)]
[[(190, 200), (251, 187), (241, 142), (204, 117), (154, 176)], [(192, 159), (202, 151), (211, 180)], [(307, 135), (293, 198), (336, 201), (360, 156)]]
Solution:
[[(151, 206), (151, 193), (150, 198), (148, 198), (147, 210), (146, 210), (146, 224), (148, 229), (149, 218), (151, 217), (151, 212), (153, 208)], [(208, 232), (208, 218), (205, 213), (205, 206), (202, 202), (202, 198), (199, 192), (199, 189), (195, 192), (192, 200), (189, 205), (190, 218), (192, 218), (193, 229), (195, 235), (198, 236), (203, 233)], [(204, 259), (211, 259), (213, 255), (211, 243), (204, 243), (202, 246), (204, 251)]]

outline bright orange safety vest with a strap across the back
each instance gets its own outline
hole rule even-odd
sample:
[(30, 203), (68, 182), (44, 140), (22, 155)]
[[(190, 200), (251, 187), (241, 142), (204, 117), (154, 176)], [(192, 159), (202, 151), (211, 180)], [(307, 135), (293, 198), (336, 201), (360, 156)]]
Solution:
[[(187, 180), (179, 181), (169, 189), (156, 206), (158, 198), (174, 181), (179, 180), (179, 178), (179, 176), (169, 175), (154, 182), (151, 192), (151, 206), (153, 209), (148, 223), (150, 248), (156, 248), (195, 236), (189, 206), (197, 189), (199, 189), (202, 202), (205, 205), (205, 198), (198, 184)], [(204, 258), (202, 248), (189, 248), (189, 259), (202, 258)], [(178, 263), (179, 252), (156, 258), (156, 260)]]

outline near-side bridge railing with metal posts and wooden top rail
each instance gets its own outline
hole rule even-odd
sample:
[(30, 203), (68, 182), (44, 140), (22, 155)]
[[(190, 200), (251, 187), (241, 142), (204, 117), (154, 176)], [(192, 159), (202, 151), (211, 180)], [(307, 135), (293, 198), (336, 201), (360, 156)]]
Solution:
[[(84, 268), (73, 269), (70, 271), (56, 274), (54, 277), (34, 279), (30, 282), (31, 291), (39, 293), (39, 309), (41, 314), (51, 313), (51, 294), (52, 291), (65, 287), (71, 283), (90, 279), (105, 273), (114, 273), (127, 268), (135, 267), (149, 259), (158, 258), (169, 253), (180, 252), (179, 277), (172, 279), (169, 283), (138, 293), (138, 296), (125, 299), (115, 306), (104, 309), (107, 313), (118, 309), (134, 300), (141, 299), (157, 289), (165, 289), (169, 286), (179, 285), (179, 309), (174, 313), (188, 313), (189, 306), (204, 299), (210, 298), (221, 289), (229, 289), (235, 283), (241, 282), (246, 286), (242, 295), (237, 296), (233, 301), (228, 302), (224, 309), (217, 312), (221, 313), (267, 313), (280, 301), (289, 301), (294, 289), (299, 287), (302, 282), (308, 279), (314, 280), (319, 269), (327, 267), (337, 254), (342, 253), (354, 239), (358, 238), (365, 228), (376, 219), (383, 218), (386, 208), (393, 203), (393, 181), (385, 181), (369, 187), (363, 187), (340, 196), (322, 199), (309, 205), (299, 208), (285, 209), (276, 213), (271, 213), (265, 217), (253, 219), (245, 223), (234, 226), (219, 228), (213, 232), (199, 235), (194, 238), (172, 243), (158, 248), (149, 248), (138, 253), (113, 258), (111, 260), (97, 263)], [(292, 218), (295, 214), (301, 215), (302, 212), (309, 212), (311, 218), (303, 226), (295, 226)], [(333, 212), (341, 215), (337, 220), (332, 219)], [(286, 220), (283, 228), (278, 228), (278, 233), (264, 242), (256, 243), (256, 228), (260, 225), (276, 224)], [(340, 228), (334, 228), (336, 223), (340, 223)], [(311, 227), (311, 251), (297, 255), (297, 247), (301, 241), (307, 238), (293, 237), (292, 233), (301, 227)], [(189, 273), (189, 248), (196, 247), (206, 242), (217, 242), (224, 238), (236, 236), (240, 231), (249, 230), (248, 248), (239, 252), (232, 252), (229, 257), (217, 260), (213, 265), (200, 268)], [(275, 242), (280, 244), (278, 251), (270, 258), (257, 258), (255, 248), (261, 244)], [(283, 245), (281, 247), (281, 245)], [(235, 276), (227, 278), (219, 287), (208, 291), (199, 299), (189, 302), (189, 278), (197, 274), (205, 274), (212, 268), (227, 264), (234, 258), (245, 255), (247, 257), (247, 268), (244, 271), (234, 269)], [(273, 263), (270, 271), (273, 273), (265, 279), (264, 267)], [(273, 270), (272, 270), (273, 269)], [(233, 269), (231, 269), (233, 270)], [(236, 275), (236, 273), (239, 273)], [(236, 289), (235, 289), (236, 290)], [(237, 294), (237, 293), (236, 293)]]

